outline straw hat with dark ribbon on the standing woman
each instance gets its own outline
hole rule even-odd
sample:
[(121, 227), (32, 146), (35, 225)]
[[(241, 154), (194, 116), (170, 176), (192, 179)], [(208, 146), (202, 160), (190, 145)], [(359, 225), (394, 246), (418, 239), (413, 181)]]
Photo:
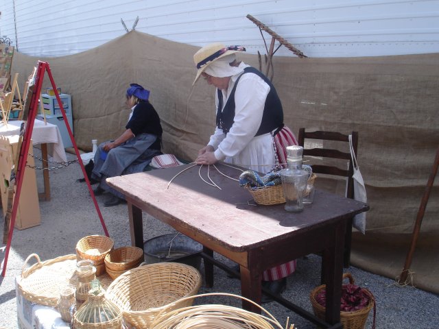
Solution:
[[(246, 48), (242, 46), (224, 46), (222, 43), (212, 43), (211, 45), (207, 45), (198, 50), (195, 55), (193, 55), (193, 62), (197, 66), (197, 75), (195, 76), (195, 80), (193, 80), (193, 84), (197, 82), (201, 73), (215, 60), (219, 60), (220, 58), (224, 58), (225, 56), (232, 55), (233, 53), (246, 51)], [(192, 85), (193, 85), (192, 84)]]

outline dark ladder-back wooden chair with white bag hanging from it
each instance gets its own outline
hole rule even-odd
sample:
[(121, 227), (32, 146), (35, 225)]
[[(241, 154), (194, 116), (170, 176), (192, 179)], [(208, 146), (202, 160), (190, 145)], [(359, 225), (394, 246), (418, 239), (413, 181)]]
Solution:
[[(351, 134), (353, 149), (355, 151), (355, 156), (357, 156), (358, 132), (351, 132)], [(305, 143), (307, 141), (311, 142), (311, 144), (316, 144), (316, 141), (318, 140), (322, 141), (322, 147), (314, 147), (314, 145), (312, 145), (311, 147), (307, 146), (307, 148), (305, 148)], [(325, 141), (329, 145), (325, 145)], [(328, 143), (328, 141), (331, 142)], [(345, 144), (333, 142), (343, 142)], [(335, 175), (347, 178), (346, 197), (351, 199), (354, 198), (354, 183), (352, 178), (353, 163), (351, 153), (349, 151), (349, 135), (341, 134), (340, 132), (326, 131), (306, 132), (305, 128), (300, 128), (298, 145), (303, 147), (303, 157), (305, 161), (309, 157), (318, 159), (318, 163), (316, 164), (309, 163), (313, 169), (313, 173)], [(336, 149), (335, 147), (338, 147), (339, 149)], [(346, 149), (347, 151), (345, 151)], [(346, 160), (346, 162), (344, 160)], [(337, 161), (342, 162), (345, 165), (348, 162), (348, 165), (346, 165), (344, 168), (339, 167), (339, 165), (337, 165), (339, 164)], [(308, 164), (308, 162), (304, 162), (304, 164)], [(348, 226), (346, 227), (343, 255), (344, 267), (349, 267), (351, 263), (352, 221), (353, 219), (348, 221)]]

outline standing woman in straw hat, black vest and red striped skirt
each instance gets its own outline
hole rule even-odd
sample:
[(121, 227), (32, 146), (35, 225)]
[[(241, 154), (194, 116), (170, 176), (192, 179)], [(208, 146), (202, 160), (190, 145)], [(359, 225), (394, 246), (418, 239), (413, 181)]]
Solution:
[[(198, 69), (193, 84), (202, 76), (217, 89), (215, 132), (198, 151), (195, 163), (225, 161), (267, 173), (276, 163), (273, 136), (284, 128), (283, 108), (270, 80), (254, 67), (237, 62), (236, 53), (245, 50), (213, 43), (193, 56)], [(286, 277), (295, 269), (296, 260), (268, 269), (263, 272), (263, 285), (281, 293)]]

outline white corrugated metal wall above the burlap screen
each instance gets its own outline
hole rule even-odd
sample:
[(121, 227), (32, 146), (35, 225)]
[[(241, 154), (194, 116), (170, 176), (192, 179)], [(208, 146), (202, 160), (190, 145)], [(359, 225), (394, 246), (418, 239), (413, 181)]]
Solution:
[[(0, 0), (0, 10), (0, 34), (30, 56), (97, 47), (126, 33), (121, 19), (131, 29), (137, 16), (138, 31), (160, 38), (265, 53), (247, 14), (309, 57), (439, 52), (439, 0)], [(294, 56), (285, 47), (276, 54)]]

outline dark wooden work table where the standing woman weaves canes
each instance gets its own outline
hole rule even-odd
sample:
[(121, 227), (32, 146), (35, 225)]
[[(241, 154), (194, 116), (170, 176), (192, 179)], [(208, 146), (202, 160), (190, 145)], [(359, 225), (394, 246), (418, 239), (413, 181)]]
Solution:
[[(257, 303), (261, 302), (261, 276), (265, 269), (322, 252), (327, 328), (339, 324), (346, 223), (353, 215), (368, 210), (368, 206), (322, 191), (316, 191), (313, 204), (298, 214), (286, 212), (283, 204), (254, 206), (248, 191), (213, 166), (209, 177), (221, 190), (201, 180), (200, 166), (174, 178), (188, 167), (186, 164), (107, 179), (108, 185), (126, 196), (132, 245), (143, 248), (145, 211), (204, 245), (207, 285), (213, 284), (213, 252), (241, 265), (241, 293)], [(235, 179), (241, 173), (224, 164), (216, 167)], [(207, 167), (202, 167), (200, 173), (209, 182), (207, 172)], [(243, 307), (260, 311), (248, 302), (243, 302)], [(321, 324), (318, 319), (310, 320)]]

